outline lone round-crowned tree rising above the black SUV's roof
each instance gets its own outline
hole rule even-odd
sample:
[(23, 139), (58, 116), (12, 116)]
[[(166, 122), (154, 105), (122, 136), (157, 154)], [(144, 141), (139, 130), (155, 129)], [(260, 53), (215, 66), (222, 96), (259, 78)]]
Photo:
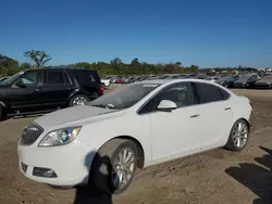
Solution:
[(24, 53), (24, 56), (30, 59), (37, 68), (42, 68), (45, 64), (51, 60), (51, 56), (45, 51), (29, 50)]

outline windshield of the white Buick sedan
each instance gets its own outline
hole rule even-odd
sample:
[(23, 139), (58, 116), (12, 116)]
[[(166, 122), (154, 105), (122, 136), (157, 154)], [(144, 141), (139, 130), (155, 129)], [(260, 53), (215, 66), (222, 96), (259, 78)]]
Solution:
[(159, 84), (132, 84), (123, 86), (88, 103), (90, 106), (122, 110), (136, 104), (139, 100), (159, 87)]

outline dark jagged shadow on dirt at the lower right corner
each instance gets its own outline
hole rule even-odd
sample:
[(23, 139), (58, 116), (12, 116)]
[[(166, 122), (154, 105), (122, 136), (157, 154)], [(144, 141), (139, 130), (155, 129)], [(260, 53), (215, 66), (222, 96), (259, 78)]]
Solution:
[(272, 150), (260, 149), (267, 154), (255, 158), (259, 165), (243, 163), (238, 167), (227, 168), (225, 173), (259, 196), (252, 204), (269, 204), (272, 203)]

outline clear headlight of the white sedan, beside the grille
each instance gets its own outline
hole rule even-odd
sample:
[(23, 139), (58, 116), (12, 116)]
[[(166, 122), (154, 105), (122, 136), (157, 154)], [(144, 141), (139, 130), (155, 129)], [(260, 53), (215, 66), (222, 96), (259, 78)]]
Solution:
[(42, 140), (39, 142), (39, 146), (55, 146), (64, 145), (72, 142), (82, 127), (70, 127), (50, 131), (46, 135)]

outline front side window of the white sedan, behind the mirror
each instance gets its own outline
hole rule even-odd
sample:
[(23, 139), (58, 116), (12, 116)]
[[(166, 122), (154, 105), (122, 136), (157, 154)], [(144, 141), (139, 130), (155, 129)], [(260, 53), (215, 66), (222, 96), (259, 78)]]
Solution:
[(194, 104), (193, 91), (189, 82), (180, 82), (161, 90), (153, 97), (140, 111), (139, 114), (156, 111), (156, 107), (162, 100), (175, 102), (177, 107), (184, 107)]

